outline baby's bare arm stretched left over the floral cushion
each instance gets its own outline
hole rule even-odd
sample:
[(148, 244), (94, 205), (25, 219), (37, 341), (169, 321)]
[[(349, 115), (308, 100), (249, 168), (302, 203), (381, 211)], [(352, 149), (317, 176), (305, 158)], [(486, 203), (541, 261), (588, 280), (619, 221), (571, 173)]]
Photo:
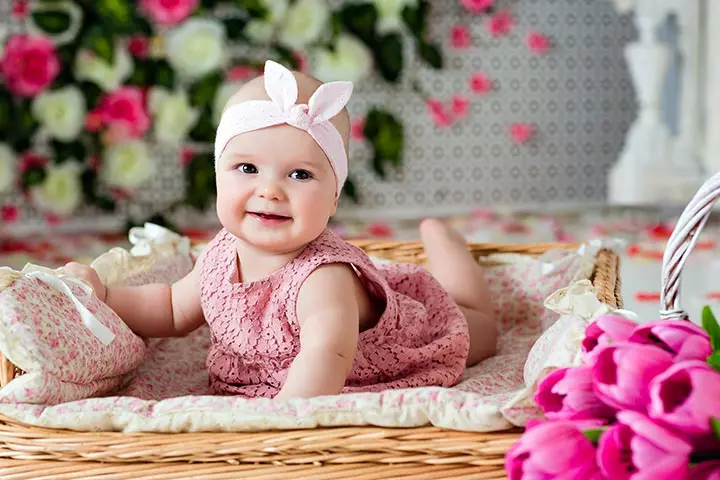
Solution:
[(69, 263), (67, 273), (92, 285), (104, 301), (141, 337), (182, 336), (198, 328), (204, 321), (200, 306), (200, 265), (172, 285), (148, 284), (134, 287), (105, 287), (95, 270), (87, 265)]

